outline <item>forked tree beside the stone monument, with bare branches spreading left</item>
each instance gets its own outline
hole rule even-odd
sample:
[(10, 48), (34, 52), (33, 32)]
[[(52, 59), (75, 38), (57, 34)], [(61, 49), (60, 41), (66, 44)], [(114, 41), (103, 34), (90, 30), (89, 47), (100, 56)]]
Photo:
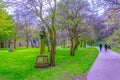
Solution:
[[(17, 10), (28, 10), (34, 14), (39, 22), (42, 22), (47, 28), (49, 33), (49, 40), (51, 42), (50, 51), (50, 65), (55, 66), (55, 53), (56, 53), (56, 0), (21, 0), (12, 1), (6, 0), (6, 3), (12, 5)], [(14, 5), (13, 5), (14, 4)], [(21, 7), (20, 7), (21, 6)], [(48, 20), (49, 19), (49, 20)], [(28, 20), (28, 19), (26, 19)]]

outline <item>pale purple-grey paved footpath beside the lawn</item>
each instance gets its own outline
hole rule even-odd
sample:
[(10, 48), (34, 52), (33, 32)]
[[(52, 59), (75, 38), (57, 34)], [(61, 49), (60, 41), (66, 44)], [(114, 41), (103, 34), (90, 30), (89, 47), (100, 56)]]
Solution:
[(120, 55), (102, 50), (88, 72), (87, 80), (120, 80)]

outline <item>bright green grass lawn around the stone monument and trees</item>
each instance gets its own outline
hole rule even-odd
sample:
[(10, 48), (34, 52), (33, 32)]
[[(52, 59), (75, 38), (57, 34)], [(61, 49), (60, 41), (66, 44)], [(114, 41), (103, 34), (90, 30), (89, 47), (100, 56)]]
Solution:
[[(57, 48), (56, 66), (34, 69), (39, 48), (17, 48), (15, 52), (0, 49), (0, 80), (68, 80), (85, 75), (98, 55), (96, 48), (79, 49), (71, 57), (69, 49)], [(46, 51), (46, 54), (49, 53)]]

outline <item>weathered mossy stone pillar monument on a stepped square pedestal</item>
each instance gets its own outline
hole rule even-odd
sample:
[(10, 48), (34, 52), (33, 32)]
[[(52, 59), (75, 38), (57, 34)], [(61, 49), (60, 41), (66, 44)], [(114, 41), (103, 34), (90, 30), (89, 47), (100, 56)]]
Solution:
[(45, 54), (45, 28), (42, 26), (40, 31), (40, 54), (37, 56), (35, 68), (46, 68), (48, 64), (48, 56)]

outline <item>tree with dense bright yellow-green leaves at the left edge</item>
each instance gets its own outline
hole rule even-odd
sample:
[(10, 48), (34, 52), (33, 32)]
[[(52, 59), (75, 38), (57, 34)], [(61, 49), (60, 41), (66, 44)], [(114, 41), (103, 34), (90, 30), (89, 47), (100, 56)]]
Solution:
[[(1, 6), (2, 2), (0, 2)], [(3, 5), (3, 4), (2, 4)], [(5, 47), (4, 44), (13, 37), (14, 21), (12, 16), (4, 10), (4, 7), (0, 7), (0, 42), (1, 47)], [(6, 45), (8, 46), (8, 44)]]

